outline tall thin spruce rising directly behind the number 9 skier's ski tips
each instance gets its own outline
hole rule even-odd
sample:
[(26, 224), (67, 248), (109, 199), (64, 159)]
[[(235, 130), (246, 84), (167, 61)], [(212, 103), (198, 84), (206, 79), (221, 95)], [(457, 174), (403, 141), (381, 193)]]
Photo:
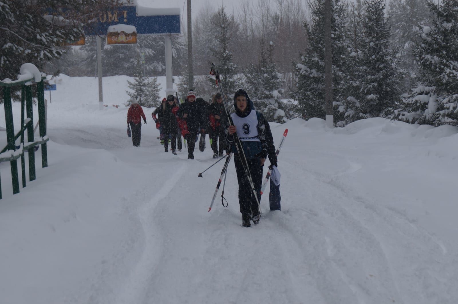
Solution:
[[(218, 33), (215, 37), (216, 41), (210, 49), (212, 50), (213, 58), (215, 59), (214, 63), (218, 68), (226, 94), (232, 95), (239, 88), (240, 83), (236, 78), (238, 67), (232, 62), (232, 53), (229, 51), (229, 41), (231, 39), (230, 27), (233, 26), (233, 20), (227, 15), (224, 6), (219, 8), (212, 16), (212, 24)], [(213, 77), (208, 76), (207, 78), (216, 90)]]

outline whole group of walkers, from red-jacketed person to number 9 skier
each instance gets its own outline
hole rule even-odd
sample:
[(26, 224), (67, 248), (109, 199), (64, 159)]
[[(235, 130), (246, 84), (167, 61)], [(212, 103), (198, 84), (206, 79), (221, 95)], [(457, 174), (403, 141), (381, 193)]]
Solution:
[[(161, 106), (152, 115), (153, 118), (158, 115), (158, 121), (163, 128), (165, 152), (169, 151), (170, 139), (172, 153), (176, 155), (177, 137), (180, 138), (179, 142), (181, 143), (181, 136), (183, 136), (188, 144), (188, 159), (194, 159), (194, 148), (199, 133), (201, 136), (208, 133), (214, 158), (223, 157), (224, 152), (234, 153), (235, 170), (239, 183), (242, 226), (251, 227), (251, 221), (254, 224), (259, 223), (261, 213), (258, 202), (261, 200), (262, 167), (267, 157), (271, 166), (276, 167), (277, 154), (275, 153), (269, 123), (260, 112), (256, 111), (247, 92), (239, 89), (234, 93), (234, 113), (231, 114), (232, 125), (229, 125), (220, 93), (213, 96), (211, 104), (208, 104), (203, 98), (196, 98), (196, 92), (193, 90), (187, 93), (186, 100), (182, 104), (178, 103), (174, 95), (169, 95), (164, 98)], [(127, 113), (127, 123), (131, 125), (132, 143), (136, 147), (140, 145), (142, 118), (146, 124), (142, 107), (134, 99), (134, 103)], [(239, 155), (236, 149), (234, 133), (240, 139), (243, 155)], [(136, 134), (135, 139), (134, 134)], [(248, 174), (251, 176), (255, 187), (257, 200), (251, 188)]]

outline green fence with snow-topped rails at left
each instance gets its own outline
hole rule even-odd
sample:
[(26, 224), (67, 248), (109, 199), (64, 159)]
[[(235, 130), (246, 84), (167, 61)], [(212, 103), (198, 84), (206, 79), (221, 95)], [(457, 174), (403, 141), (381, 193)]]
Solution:
[[(43, 75), (43, 74), (42, 74)], [(23, 77), (22, 77), (23, 78)], [(41, 162), (42, 167), (48, 166), (48, 152), (46, 142), (49, 137), (46, 135), (46, 118), (44, 109), (44, 79), (42, 76), (40, 82), (33, 82), (35, 77), (28, 79), (11, 81), (5, 79), (0, 81), (0, 87), (3, 87), (3, 105), (5, 107), (6, 138), (7, 145), (0, 152), (0, 162), (10, 162), (11, 179), (13, 184), (13, 194), (19, 193), (19, 174), (17, 171), (17, 159), (21, 158), (22, 168), (22, 187), (26, 186), (26, 167), (25, 155), (28, 152), (29, 180), (36, 178), (35, 174), (35, 146), (41, 145)], [(33, 97), (32, 86), (37, 86), (38, 99), (38, 125), (39, 138), (35, 140), (33, 135)], [(21, 87), (21, 130), (14, 134), (13, 110), (11, 103), (11, 88)], [(25, 111), (24, 111), (25, 110)], [(24, 118), (24, 112), (27, 119)], [(24, 143), (24, 133), (27, 131), (27, 143)], [(16, 148), (16, 140), (21, 137), (21, 144)], [(2, 198), (1, 178), (0, 178), (0, 199)]]

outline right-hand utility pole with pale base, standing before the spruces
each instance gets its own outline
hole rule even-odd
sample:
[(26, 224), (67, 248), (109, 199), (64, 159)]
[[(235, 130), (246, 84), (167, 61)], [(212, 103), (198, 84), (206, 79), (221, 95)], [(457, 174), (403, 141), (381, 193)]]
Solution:
[(326, 103), (326, 125), (334, 127), (333, 114), (333, 52), (331, 49), (331, 0), (324, 1), (324, 100)]

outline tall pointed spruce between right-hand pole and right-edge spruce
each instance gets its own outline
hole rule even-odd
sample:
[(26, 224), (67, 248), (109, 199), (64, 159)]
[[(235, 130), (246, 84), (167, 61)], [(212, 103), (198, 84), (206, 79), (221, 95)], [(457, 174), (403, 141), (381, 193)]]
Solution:
[[(399, 71), (394, 52), (389, 49), (390, 29), (385, 19), (384, 0), (365, 1), (363, 43), (360, 50), (359, 92), (346, 110), (353, 113), (347, 122), (370, 117), (387, 117), (400, 99)], [(350, 100), (349, 100), (350, 101)]]

